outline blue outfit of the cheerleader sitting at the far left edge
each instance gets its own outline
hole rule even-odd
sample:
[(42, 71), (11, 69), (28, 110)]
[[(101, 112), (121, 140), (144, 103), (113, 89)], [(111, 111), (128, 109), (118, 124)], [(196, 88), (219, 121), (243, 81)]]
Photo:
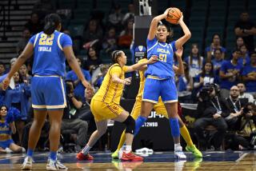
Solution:
[(11, 139), (10, 125), (5, 120), (0, 120), (0, 147), (2, 149), (9, 148), (14, 143)]

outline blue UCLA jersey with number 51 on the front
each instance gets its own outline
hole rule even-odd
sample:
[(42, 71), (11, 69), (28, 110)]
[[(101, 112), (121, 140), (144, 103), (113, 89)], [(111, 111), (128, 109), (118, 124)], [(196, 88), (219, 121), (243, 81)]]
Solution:
[(174, 52), (176, 51), (175, 42), (170, 44), (146, 39), (147, 58), (158, 56), (158, 62), (148, 65), (145, 77), (150, 76), (156, 79), (174, 78)]

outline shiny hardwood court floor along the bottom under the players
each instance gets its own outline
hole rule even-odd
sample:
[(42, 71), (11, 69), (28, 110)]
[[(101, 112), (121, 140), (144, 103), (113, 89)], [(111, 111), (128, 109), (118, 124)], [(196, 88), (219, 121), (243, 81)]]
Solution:
[[(94, 152), (94, 161), (77, 161), (75, 153), (58, 155), (69, 170), (256, 170), (256, 151), (205, 152), (202, 159), (186, 153), (186, 161), (176, 161), (173, 152), (159, 152), (145, 157), (145, 161), (121, 162), (112, 160), (110, 153)], [(35, 153), (33, 170), (45, 170), (47, 153)], [(1, 154), (0, 170), (20, 170), (21, 154)]]

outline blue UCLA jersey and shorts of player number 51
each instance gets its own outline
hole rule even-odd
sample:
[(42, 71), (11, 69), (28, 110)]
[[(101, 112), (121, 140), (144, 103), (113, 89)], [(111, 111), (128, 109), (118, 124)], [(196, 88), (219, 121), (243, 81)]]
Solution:
[(178, 101), (173, 70), (175, 42), (168, 44), (154, 38), (147, 39), (146, 44), (147, 58), (158, 56), (158, 62), (148, 65), (142, 101), (158, 103), (158, 97), (162, 97), (164, 103)]

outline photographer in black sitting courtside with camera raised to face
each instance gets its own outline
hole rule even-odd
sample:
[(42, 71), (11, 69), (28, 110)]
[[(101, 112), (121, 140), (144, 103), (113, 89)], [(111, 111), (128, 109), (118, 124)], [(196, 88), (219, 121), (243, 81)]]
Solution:
[(216, 84), (205, 85), (199, 93), (198, 119), (194, 122), (194, 129), (202, 150), (206, 150), (207, 147), (204, 130), (208, 125), (213, 125), (217, 129), (217, 133), (213, 137), (215, 149), (220, 149), (226, 133), (227, 125), (222, 116), (226, 116), (228, 107), (218, 93), (219, 89)]

